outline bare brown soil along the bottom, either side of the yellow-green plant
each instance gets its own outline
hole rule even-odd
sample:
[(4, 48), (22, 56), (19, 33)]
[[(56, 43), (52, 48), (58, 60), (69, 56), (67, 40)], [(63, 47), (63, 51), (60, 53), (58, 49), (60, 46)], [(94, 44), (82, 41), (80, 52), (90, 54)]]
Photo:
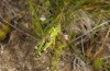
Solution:
[[(11, 32), (9, 43), (1, 46), (0, 71), (51, 71), (51, 58), (47, 51), (36, 60), (34, 47), (37, 40), (18, 31)], [(75, 56), (67, 52), (58, 63), (59, 71), (82, 71), (72, 67)], [(73, 57), (73, 58), (72, 58)]]

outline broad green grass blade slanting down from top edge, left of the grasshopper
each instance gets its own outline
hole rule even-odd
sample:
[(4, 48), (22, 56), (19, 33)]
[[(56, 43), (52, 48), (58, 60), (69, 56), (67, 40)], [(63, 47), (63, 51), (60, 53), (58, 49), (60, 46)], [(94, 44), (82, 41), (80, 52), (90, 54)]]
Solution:
[(42, 24), (40, 23), (40, 17), (36, 14), (35, 8), (33, 5), (33, 2), (31, 0), (28, 0), (29, 5), (30, 5), (30, 10), (32, 12), (32, 28), (36, 34), (36, 37), (40, 37), (43, 35), (43, 28), (42, 28)]

